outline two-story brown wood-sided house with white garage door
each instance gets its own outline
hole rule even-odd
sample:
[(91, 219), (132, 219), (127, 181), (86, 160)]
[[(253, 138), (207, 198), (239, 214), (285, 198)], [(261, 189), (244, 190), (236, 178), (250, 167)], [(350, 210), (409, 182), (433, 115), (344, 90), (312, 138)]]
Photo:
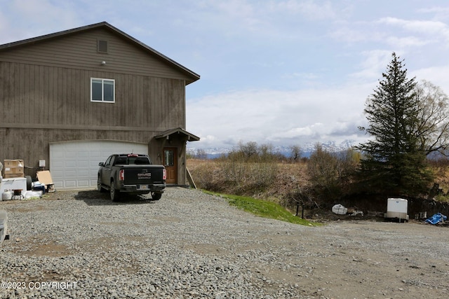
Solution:
[(188, 84), (199, 75), (100, 22), (0, 46), (0, 160), (95, 188), (111, 153), (148, 153), (185, 184)]

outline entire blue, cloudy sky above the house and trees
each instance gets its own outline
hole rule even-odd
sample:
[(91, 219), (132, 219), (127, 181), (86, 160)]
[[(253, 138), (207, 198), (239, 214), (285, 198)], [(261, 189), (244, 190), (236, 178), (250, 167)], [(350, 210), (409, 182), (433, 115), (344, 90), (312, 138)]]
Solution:
[(392, 52), (449, 94), (443, 0), (0, 0), (0, 44), (102, 21), (201, 76), (187, 86), (194, 148), (364, 141)]

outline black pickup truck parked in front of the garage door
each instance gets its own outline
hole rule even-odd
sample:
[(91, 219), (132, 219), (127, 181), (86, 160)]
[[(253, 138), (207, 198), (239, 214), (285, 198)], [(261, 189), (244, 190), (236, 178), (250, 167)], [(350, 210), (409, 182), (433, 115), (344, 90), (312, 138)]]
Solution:
[(119, 200), (120, 193), (137, 195), (151, 192), (153, 200), (160, 200), (166, 188), (165, 167), (152, 165), (148, 155), (110, 155), (98, 166), (98, 191), (109, 190), (114, 202)]

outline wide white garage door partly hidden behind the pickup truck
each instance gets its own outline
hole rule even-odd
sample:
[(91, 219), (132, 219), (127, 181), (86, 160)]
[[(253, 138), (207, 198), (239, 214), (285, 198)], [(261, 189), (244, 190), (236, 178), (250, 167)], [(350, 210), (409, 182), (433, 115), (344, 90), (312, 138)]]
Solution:
[(50, 172), (57, 190), (97, 188), (98, 163), (114, 153), (145, 153), (148, 144), (68, 141), (50, 144)]

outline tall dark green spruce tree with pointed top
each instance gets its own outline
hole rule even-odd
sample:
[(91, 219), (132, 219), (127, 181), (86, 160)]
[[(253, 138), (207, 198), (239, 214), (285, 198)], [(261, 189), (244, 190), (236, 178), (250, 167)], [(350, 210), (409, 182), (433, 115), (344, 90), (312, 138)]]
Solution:
[(427, 170), (426, 153), (418, 140), (420, 102), (415, 96), (415, 78), (396, 53), (377, 89), (366, 101), (368, 127), (373, 137), (358, 146), (364, 158), (359, 174), (363, 189), (386, 195), (418, 195), (433, 180)]

